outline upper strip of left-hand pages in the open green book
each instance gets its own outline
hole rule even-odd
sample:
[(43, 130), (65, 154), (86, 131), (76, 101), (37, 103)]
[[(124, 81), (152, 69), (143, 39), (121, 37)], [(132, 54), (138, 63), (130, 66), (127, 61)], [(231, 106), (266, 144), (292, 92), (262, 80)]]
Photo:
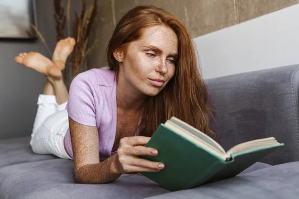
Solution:
[(175, 123), (176, 125), (180, 126), (181, 128), (185, 129), (189, 133), (193, 134), (194, 136), (198, 137), (199, 139), (206, 142), (208, 145), (216, 148), (221, 153), (225, 153), (225, 150), (222, 148), (220, 144), (218, 144), (215, 140), (210, 138), (208, 135), (204, 134), (203, 132), (199, 131), (198, 129), (194, 128), (193, 126), (187, 124), (186, 122), (183, 122), (182, 120), (171, 117), (170, 121)]

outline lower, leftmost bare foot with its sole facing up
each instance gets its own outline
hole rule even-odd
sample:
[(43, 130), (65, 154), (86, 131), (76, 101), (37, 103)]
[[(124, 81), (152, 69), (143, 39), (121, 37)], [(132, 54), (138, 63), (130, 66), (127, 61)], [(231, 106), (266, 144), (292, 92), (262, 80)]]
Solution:
[(40, 53), (20, 53), (14, 58), (16, 63), (22, 64), (26, 68), (33, 69), (45, 75), (49, 81), (54, 79), (62, 79), (61, 71), (54, 65), (51, 60)]

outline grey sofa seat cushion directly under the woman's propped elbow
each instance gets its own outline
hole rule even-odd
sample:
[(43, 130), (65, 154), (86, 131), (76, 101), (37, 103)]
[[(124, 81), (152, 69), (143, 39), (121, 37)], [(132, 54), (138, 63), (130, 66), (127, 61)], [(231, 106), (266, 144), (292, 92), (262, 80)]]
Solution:
[[(272, 166), (256, 163), (239, 175), (246, 175), (248, 172), (265, 167)], [(73, 170), (73, 161), (65, 159), (29, 162), (1, 168), (0, 199), (142, 199), (170, 193), (155, 182), (139, 175), (122, 175), (115, 182), (102, 185), (75, 184)], [(240, 182), (238, 177), (233, 179)]]

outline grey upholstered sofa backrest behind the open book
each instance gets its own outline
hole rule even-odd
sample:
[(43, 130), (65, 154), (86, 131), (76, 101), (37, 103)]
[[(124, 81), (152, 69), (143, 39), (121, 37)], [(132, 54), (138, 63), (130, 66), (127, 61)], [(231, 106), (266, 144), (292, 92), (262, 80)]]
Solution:
[(225, 150), (274, 136), (285, 146), (261, 162), (299, 161), (298, 71), (299, 65), (293, 65), (206, 80)]

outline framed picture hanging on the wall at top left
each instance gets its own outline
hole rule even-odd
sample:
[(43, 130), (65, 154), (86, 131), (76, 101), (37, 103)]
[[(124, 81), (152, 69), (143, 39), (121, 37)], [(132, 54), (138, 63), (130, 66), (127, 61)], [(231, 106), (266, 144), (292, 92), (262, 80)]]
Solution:
[(35, 39), (35, 0), (0, 0), (0, 39)]

